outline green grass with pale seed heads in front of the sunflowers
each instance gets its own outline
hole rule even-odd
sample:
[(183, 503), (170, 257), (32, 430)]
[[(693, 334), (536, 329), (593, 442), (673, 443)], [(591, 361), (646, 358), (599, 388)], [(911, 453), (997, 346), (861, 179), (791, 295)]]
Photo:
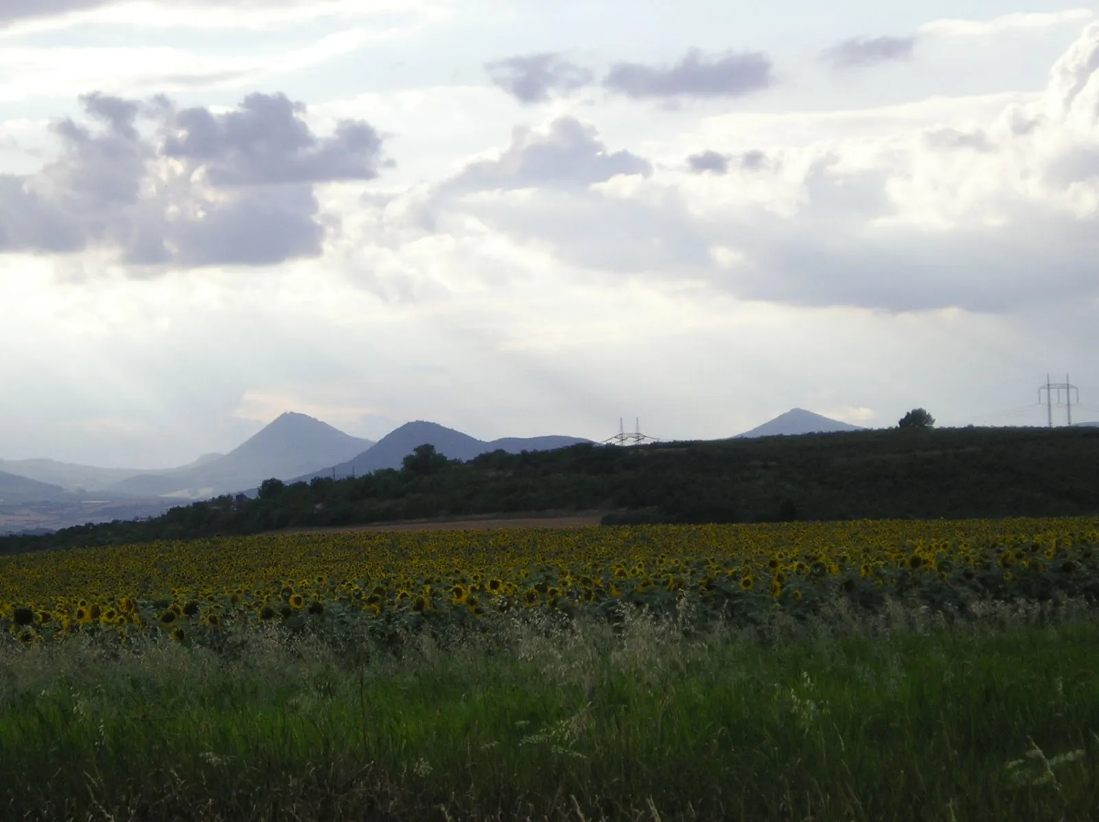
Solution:
[(1099, 624), (1037, 613), (8, 646), (0, 818), (1094, 819)]

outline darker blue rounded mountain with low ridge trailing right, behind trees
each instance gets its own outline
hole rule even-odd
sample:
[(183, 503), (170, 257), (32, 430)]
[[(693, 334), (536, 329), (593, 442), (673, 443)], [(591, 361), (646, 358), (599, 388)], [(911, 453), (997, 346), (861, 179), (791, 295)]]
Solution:
[[(485, 442), (476, 437), (463, 434), (460, 431), (447, 429), (434, 422), (407, 422), (396, 431), (391, 431), (381, 437), (368, 449), (358, 454), (353, 459), (341, 463), (334, 467), (336, 477), (349, 477), (353, 474), (360, 476), (376, 471), (379, 468), (400, 468), (401, 462), (411, 454), (419, 445), (434, 445), (435, 451), (444, 454), (451, 459), (468, 462), (479, 454), (487, 454), (493, 451), (506, 451), (509, 454), (519, 454), (523, 451), (553, 451), (554, 448), (565, 448), (578, 443), (587, 443), (590, 440), (581, 440), (575, 436), (532, 436), (515, 437), (509, 436), (502, 440)], [(295, 481), (309, 480), (314, 476), (331, 477), (333, 469), (328, 471), (314, 471), (311, 475), (297, 477)]]

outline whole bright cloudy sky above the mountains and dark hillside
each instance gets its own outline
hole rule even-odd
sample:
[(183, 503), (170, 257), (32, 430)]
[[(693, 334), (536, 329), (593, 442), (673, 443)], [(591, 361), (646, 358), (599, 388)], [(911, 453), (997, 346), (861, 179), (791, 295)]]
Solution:
[(0, 3), (8, 459), (1099, 420), (1097, 260), (1095, 5)]

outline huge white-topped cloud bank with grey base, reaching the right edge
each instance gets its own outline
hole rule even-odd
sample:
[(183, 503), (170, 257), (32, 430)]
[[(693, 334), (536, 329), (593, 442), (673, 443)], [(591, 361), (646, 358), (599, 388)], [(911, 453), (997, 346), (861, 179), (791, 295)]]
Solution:
[[(448, 207), (585, 270), (741, 299), (989, 313), (1099, 299), (1099, 24), (1056, 63), (1044, 95), (995, 100), (884, 110), (888, 127), (869, 127), (867, 112), (768, 115), (766, 153), (707, 151), (632, 176), (569, 160), (566, 179), (584, 185)], [(975, 119), (981, 111), (991, 113)], [(763, 122), (725, 119), (711, 136), (745, 140)], [(606, 156), (591, 126), (563, 131), (571, 141), (525, 134), (509, 162), (466, 174), (480, 189), (546, 186), (573, 156), (562, 145)], [(528, 142), (556, 146), (539, 174), (520, 170)]]

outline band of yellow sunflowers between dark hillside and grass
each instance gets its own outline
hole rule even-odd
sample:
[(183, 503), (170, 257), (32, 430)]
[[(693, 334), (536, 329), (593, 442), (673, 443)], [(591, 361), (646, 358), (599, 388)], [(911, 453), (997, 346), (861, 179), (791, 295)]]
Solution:
[(0, 636), (208, 644), (230, 624), (409, 629), (685, 601), (751, 623), (890, 596), (964, 614), (976, 601), (1094, 602), (1097, 563), (1096, 518), (268, 534), (2, 557)]

